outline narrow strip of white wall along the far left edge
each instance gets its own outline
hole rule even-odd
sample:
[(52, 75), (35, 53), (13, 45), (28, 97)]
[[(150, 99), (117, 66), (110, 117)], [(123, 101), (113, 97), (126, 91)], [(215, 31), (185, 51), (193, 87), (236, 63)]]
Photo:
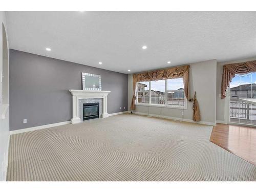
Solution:
[[(5, 29), (7, 30), (6, 26), (6, 17), (5, 12), (0, 11), (0, 71), (3, 71), (3, 29), (2, 29), (2, 23), (5, 26)], [(6, 31), (7, 33), (7, 31)], [(6, 34), (7, 35), (7, 34)], [(8, 40), (7, 40), (7, 46), (8, 46)], [(9, 49), (8, 49), (8, 69), (9, 69)], [(9, 73), (9, 70), (8, 70)], [(6, 75), (8, 77), (8, 75)], [(7, 82), (7, 86), (9, 92), (9, 82)], [(3, 85), (3, 82), (0, 82), (0, 90), (3, 91), (3, 86), (6, 87), (6, 85)], [(8, 147), (9, 147), (9, 138), (10, 138), (10, 132), (9, 132), (9, 110), (8, 110), (8, 103), (9, 99), (5, 99), (4, 102), (0, 103), (0, 181), (6, 181), (6, 170), (8, 165)], [(3, 111), (7, 109), (7, 113), (5, 113), (5, 118), (3, 118)]]

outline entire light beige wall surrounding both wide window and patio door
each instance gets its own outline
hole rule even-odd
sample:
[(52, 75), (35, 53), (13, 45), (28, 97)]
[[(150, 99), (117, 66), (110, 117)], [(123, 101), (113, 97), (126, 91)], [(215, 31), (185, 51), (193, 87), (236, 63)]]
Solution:
[[(203, 61), (203, 62), (190, 64), (190, 79), (189, 79), (190, 94), (193, 93), (193, 90), (197, 91), (203, 122), (215, 122), (215, 119), (217, 120), (217, 122), (220, 122), (220, 123), (228, 122), (228, 118), (229, 118), (228, 112), (227, 111), (225, 112), (225, 103), (226, 103), (226, 108), (228, 108), (228, 99), (221, 99), (221, 80), (222, 80), (223, 65), (226, 65), (229, 63), (245, 62), (250, 60), (256, 60), (256, 57), (250, 57), (250, 58), (239, 59), (239, 60), (231, 60), (226, 62), (218, 62), (217, 65), (216, 65), (216, 60)], [(208, 82), (209, 79), (212, 79), (212, 81)], [(128, 109), (129, 111), (130, 111), (130, 105), (131, 105), (132, 93), (133, 93), (132, 82), (133, 82), (132, 75), (129, 75), (128, 77), (128, 94), (129, 94)], [(207, 83), (209, 83), (208, 86), (207, 86)], [(216, 86), (214, 85), (215, 83), (216, 83)], [(212, 89), (212, 86), (216, 87), (216, 91), (213, 91), (214, 89)], [(216, 97), (212, 97), (214, 92), (216, 93)], [(215, 102), (216, 102), (216, 108), (212, 106), (213, 103)], [(187, 110), (184, 110), (184, 115), (182, 115), (182, 110), (180, 109), (157, 108), (153, 106), (150, 106), (150, 107), (136, 106), (136, 112), (146, 113), (146, 114), (149, 113), (149, 114), (155, 114), (155, 115), (160, 114), (161, 116), (174, 117), (177, 119), (191, 119), (191, 114), (193, 112), (191, 108), (192, 108), (192, 104), (188, 103)], [(208, 110), (208, 109), (211, 109), (211, 110)], [(216, 115), (212, 115), (212, 113), (214, 113), (215, 110), (216, 110)]]

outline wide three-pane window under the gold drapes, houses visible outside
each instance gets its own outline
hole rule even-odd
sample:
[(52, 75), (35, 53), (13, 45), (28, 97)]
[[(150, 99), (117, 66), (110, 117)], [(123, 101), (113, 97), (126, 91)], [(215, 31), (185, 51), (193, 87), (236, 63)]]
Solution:
[(185, 108), (183, 78), (138, 82), (137, 104)]

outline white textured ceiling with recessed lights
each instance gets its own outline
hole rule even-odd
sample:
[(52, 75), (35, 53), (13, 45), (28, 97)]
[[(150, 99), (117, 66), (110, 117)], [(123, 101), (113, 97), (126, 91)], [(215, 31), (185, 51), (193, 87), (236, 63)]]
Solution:
[(7, 12), (7, 31), (11, 49), (126, 74), (256, 55), (256, 12)]

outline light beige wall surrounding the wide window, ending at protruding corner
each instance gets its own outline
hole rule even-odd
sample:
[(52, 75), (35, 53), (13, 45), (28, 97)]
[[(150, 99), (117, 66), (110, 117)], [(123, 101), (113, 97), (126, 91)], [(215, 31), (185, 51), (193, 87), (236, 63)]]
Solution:
[[(191, 63), (189, 71), (190, 97), (197, 92), (197, 99), (201, 112), (201, 122), (203, 124), (216, 124), (216, 83), (217, 83), (217, 61), (208, 60), (203, 62)], [(128, 77), (128, 110), (133, 96), (133, 77)], [(184, 111), (184, 115), (182, 115)], [(166, 118), (192, 121), (193, 103), (187, 103), (187, 110), (159, 108), (155, 106), (136, 106), (135, 113), (152, 114), (164, 116)]]

